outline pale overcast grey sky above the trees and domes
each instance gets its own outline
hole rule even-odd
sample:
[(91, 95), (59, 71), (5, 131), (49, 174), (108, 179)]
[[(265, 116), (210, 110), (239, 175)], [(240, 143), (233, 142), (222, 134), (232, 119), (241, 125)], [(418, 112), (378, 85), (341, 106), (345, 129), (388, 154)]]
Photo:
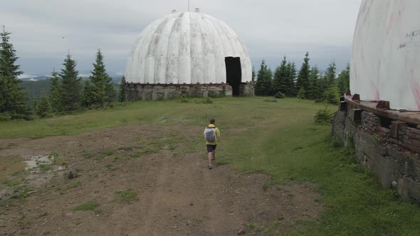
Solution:
[[(309, 51), (311, 64), (324, 69), (350, 61), (352, 36), (362, 0), (191, 0), (190, 9), (219, 18), (238, 33), (253, 66), (266, 59), (271, 68), (287, 55), (295, 63)], [(26, 74), (61, 69), (70, 54), (80, 73), (92, 70), (95, 53), (107, 70), (121, 74), (135, 39), (149, 23), (187, 11), (188, 0), (5, 0), (0, 24)]]

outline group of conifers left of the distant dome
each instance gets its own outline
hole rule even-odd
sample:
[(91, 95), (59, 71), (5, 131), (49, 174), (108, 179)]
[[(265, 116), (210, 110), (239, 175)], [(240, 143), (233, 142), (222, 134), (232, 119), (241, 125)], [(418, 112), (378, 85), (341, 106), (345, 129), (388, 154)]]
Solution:
[[(82, 80), (76, 61), (68, 53), (61, 71), (53, 70), (50, 79), (22, 85), (19, 75), (23, 71), (16, 65), (19, 58), (10, 43), (10, 35), (5, 28), (0, 33), (0, 120), (43, 118), (86, 108), (104, 108), (112, 106), (116, 100), (115, 85), (106, 72), (99, 49), (88, 80)], [(24, 89), (28, 83), (35, 86), (29, 91), (30, 95)]]

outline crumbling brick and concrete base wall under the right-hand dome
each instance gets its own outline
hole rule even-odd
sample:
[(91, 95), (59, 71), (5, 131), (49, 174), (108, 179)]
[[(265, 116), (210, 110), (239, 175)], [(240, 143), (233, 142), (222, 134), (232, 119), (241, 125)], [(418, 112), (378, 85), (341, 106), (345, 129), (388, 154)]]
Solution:
[(390, 127), (383, 127), (381, 117), (362, 112), (355, 122), (354, 110), (337, 112), (332, 136), (345, 145), (354, 145), (355, 161), (368, 166), (384, 188), (395, 188), (402, 198), (420, 203), (420, 130), (409, 124), (399, 126), (398, 137), (390, 136)]

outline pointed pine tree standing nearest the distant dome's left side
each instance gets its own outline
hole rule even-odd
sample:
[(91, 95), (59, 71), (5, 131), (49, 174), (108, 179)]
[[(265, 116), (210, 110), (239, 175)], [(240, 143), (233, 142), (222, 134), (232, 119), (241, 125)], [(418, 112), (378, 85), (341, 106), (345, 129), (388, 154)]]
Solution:
[(98, 107), (106, 107), (115, 97), (112, 77), (106, 73), (103, 55), (98, 49), (96, 63), (93, 63), (92, 75), (89, 77), (92, 83), (92, 102)]

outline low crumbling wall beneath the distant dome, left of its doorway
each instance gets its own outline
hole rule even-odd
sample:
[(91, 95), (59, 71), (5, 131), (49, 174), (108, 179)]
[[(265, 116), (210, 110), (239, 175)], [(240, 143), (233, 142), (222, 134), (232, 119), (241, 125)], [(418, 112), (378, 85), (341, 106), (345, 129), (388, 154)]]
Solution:
[(175, 97), (229, 97), (232, 87), (228, 84), (210, 85), (145, 85), (127, 83), (125, 101), (162, 100)]

